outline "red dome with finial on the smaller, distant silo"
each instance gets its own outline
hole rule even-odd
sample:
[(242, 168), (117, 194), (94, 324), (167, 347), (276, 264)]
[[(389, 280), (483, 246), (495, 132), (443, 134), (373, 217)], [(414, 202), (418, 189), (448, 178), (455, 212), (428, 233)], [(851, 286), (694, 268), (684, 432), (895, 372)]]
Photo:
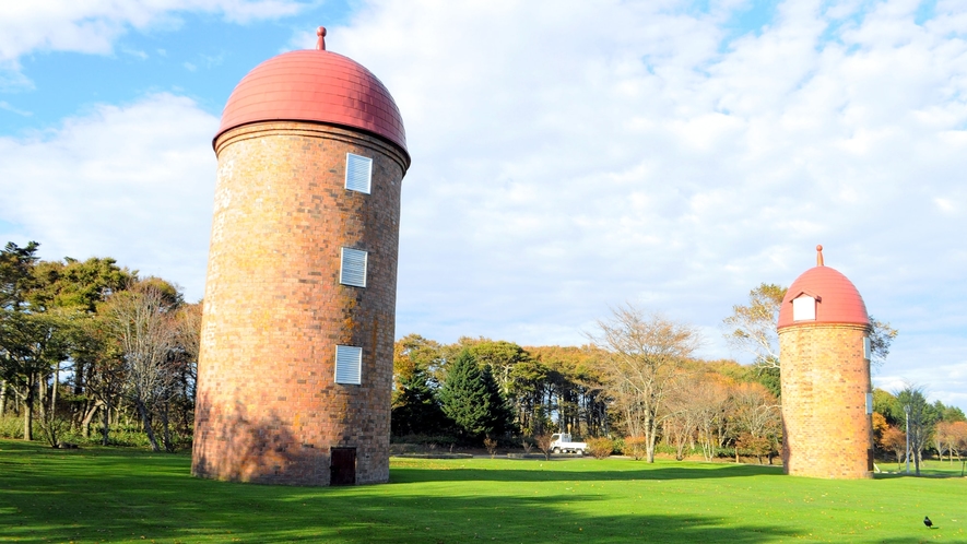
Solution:
[[(822, 247), (822, 246), (821, 246)], [(822, 264), (822, 250), (818, 267), (806, 270), (789, 286), (782, 306), (779, 308), (779, 329), (803, 323), (870, 324), (866, 305), (860, 292), (839, 271)], [(816, 299), (815, 319), (795, 321), (792, 317), (792, 300), (806, 294)]]

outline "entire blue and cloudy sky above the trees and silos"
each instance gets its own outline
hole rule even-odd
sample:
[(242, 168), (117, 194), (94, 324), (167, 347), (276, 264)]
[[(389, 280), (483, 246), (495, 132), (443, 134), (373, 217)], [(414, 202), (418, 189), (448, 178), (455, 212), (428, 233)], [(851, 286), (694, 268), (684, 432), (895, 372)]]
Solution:
[(0, 3), (0, 240), (204, 289), (211, 139), (310, 48), (406, 123), (397, 335), (581, 344), (630, 303), (721, 320), (844, 272), (899, 329), (876, 385), (967, 409), (967, 7), (937, 1)]

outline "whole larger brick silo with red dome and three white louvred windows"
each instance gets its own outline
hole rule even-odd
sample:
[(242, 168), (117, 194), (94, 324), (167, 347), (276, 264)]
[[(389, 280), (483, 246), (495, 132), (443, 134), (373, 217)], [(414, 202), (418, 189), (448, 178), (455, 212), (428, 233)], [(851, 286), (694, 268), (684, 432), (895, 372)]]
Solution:
[(400, 187), (382, 83), (326, 50), (274, 57), (228, 98), (204, 295), (192, 474), (389, 480)]

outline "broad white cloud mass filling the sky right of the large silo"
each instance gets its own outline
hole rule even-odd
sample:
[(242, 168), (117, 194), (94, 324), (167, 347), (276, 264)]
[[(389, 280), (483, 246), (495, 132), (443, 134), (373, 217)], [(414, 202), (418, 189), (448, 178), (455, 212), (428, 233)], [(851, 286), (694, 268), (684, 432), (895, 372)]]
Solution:
[(327, 43), (406, 123), (398, 332), (581, 342), (624, 300), (714, 331), (822, 243), (898, 347), (967, 350), (967, 17), (907, 4), (786, 2), (723, 46), (719, 9), (370, 2)]

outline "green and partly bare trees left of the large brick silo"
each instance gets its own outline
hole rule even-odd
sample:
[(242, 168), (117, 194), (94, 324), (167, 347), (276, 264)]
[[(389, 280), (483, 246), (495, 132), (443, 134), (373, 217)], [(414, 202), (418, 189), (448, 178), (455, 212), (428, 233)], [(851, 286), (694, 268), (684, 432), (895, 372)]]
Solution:
[(0, 250), (0, 417), (54, 447), (92, 427), (109, 445), (121, 421), (156, 451), (190, 440), (200, 304), (114, 259), (43, 261), (38, 247)]

